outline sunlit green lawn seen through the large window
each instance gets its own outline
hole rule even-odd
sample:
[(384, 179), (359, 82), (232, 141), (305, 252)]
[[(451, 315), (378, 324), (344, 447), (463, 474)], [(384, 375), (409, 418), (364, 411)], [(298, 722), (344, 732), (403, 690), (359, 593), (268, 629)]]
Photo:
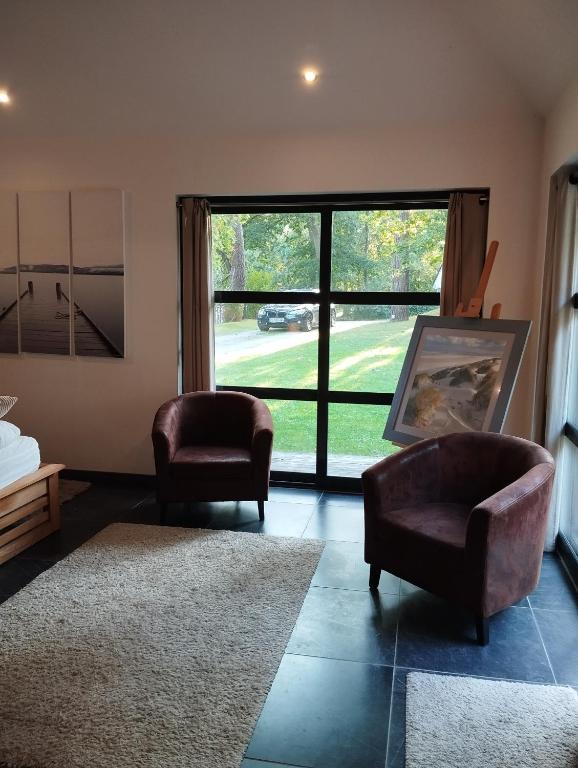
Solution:
[[(414, 323), (415, 317), (405, 322), (372, 321), (332, 334), (331, 389), (394, 392)], [(224, 323), (217, 328), (218, 335), (223, 336), (253, 330), (255, 321)], [(317, 386), (317, 341), (312, 338), (297, 347), (269, 354), (262, 350), (248, 351), (240, 360), (218, 365), (217, 382), (314, 389)], [(275, 449), (313, 453), (316, 404), (270, 400), (268, 405), (275, 424)], [(385, 405), (330, 404), (330, 454), (379, 457), (395, 451), (395, 446), (381, 437), (388, 412), (389, 407)]]

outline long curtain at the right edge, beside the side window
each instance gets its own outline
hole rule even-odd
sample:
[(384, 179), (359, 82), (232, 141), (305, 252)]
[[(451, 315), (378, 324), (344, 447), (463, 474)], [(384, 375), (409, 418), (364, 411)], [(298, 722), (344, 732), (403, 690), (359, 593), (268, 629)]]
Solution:
[(572, 295), (578, 290), (578, 191), (569, 183), (576, 169), (561, 168), (550, 180), (546, 254), (542, 284), (542, 308), (534, 398), (533, 437), (556, 461), (556, 482), (546, 536), (553, 549), (558, 534), (562, 503), (569, 498), (572, 480), (564, 471), (565, 439), (572, 323)]

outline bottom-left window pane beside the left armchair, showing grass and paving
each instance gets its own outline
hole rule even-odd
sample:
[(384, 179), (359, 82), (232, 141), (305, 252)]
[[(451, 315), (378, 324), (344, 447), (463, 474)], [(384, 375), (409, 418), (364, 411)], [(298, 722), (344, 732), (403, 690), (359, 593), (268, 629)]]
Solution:
[(271, 469), (283, 472), (315, 472), (317, 403), (297, 400), (265, 400), (273, 416)]

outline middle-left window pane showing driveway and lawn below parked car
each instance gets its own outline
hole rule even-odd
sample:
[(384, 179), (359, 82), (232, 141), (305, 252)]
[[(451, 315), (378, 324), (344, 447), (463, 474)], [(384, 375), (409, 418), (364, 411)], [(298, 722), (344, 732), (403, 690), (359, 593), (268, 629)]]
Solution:
[[(285, 321), (278, 326), (271, 324), (268, 331), (260, 330), (260, 309), (260, 304), (215, 307), (217, 384), (316, 389), (319, 332), (307, 330), (307, 324), (287, 325)], [(281, 305), (276, 307), (278, 314), (281, 309)]]

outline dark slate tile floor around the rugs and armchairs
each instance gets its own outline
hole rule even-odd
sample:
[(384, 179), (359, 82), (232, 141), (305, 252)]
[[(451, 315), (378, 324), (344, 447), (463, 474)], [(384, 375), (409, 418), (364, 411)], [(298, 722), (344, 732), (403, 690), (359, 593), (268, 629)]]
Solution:
[[(0, 602), (111, 522), (158, 524), (151, 490), (94, 485), (62, 507), (62, 529), (0, 566)], [(359, 496), (273, 488), (252, 502), (173, 505), (169, 524), (327, 540), (241, 768), (403, 768), (408, 671), (578, 687), (578, 600), (546, 555), (529, 599), (491, 619), (475, 643), (469, 616), (382, 574), (367, 589)]]

